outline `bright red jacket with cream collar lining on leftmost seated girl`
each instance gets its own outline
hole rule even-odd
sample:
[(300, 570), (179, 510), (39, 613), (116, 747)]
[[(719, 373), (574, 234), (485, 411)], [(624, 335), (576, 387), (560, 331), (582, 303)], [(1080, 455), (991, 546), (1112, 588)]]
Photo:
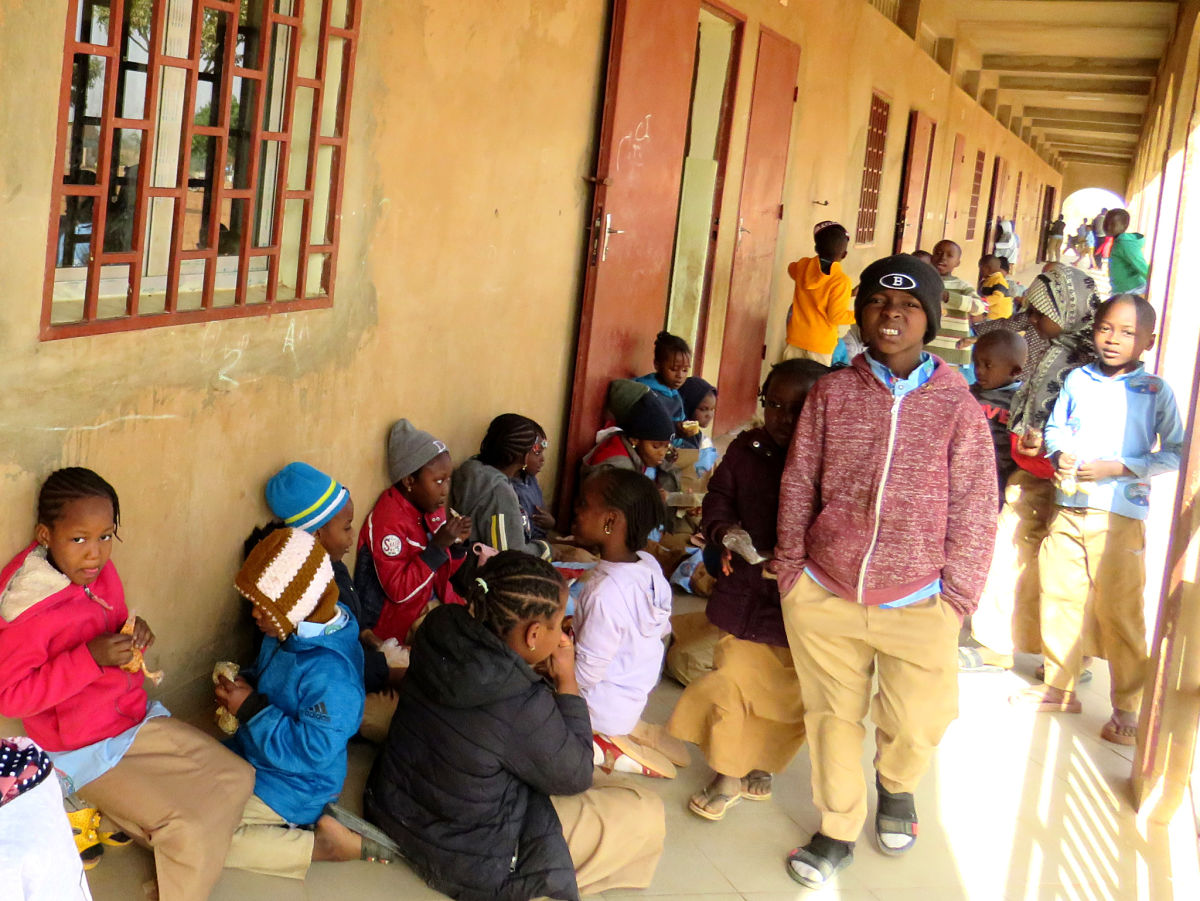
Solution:
[(0, 714), (22, 720), (47, 751), (73, 751), (142, 722), (142, 673), (102, 667), (88, 642), (128, 613), (112, 561), (86, 588), (30, 545), (0, 572)]

